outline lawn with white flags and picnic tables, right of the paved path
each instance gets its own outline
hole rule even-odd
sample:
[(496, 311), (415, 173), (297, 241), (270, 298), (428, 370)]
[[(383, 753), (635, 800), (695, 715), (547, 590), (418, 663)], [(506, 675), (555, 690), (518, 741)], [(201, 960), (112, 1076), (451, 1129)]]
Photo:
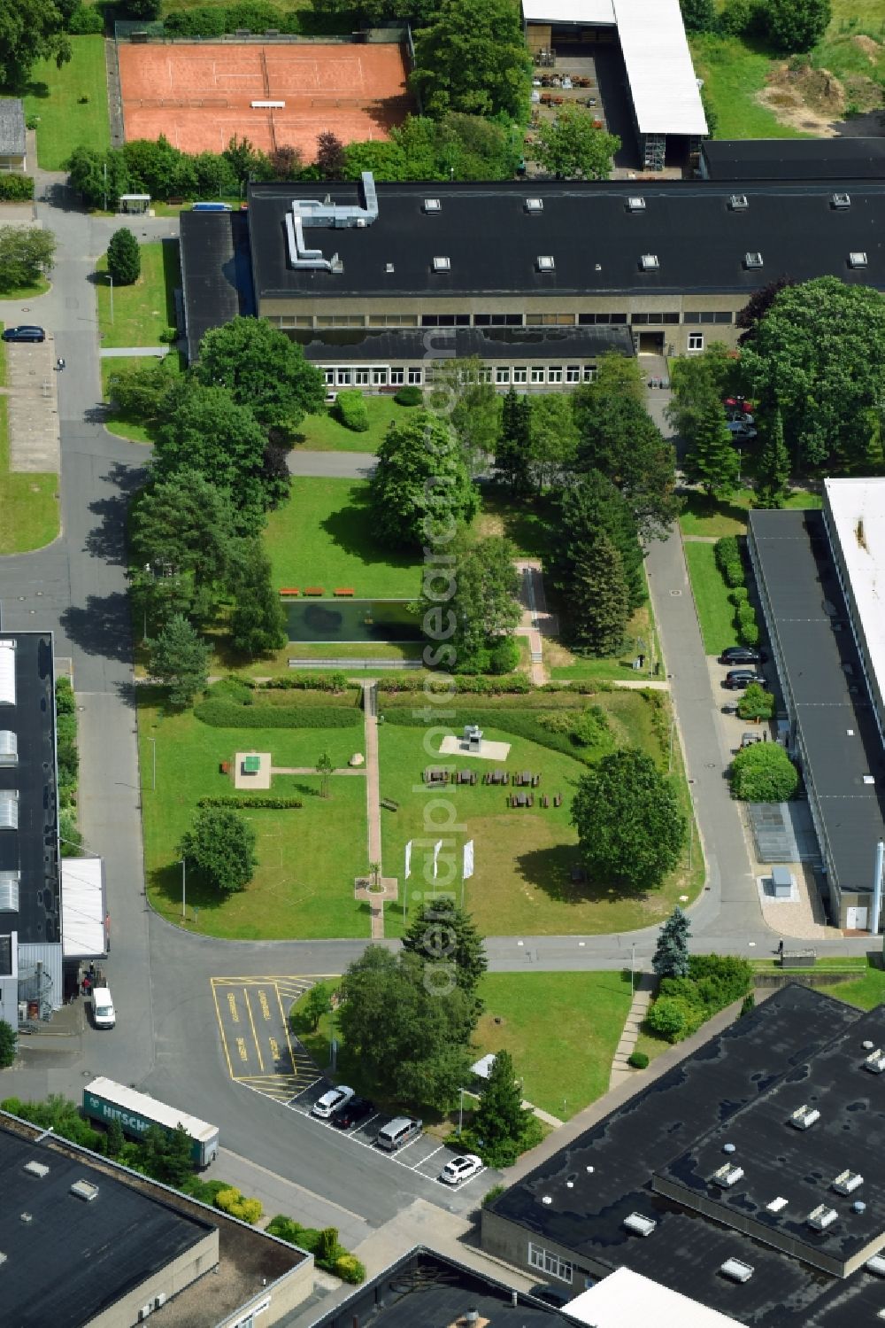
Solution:
[[(694, 851), (691, 871), (687, 855), (659, 891), (632, 894), (606, 884), (589, 884), (577, 853), (577, 831), (569, 822), (571, 802), (586, 761), (598, 760), (616, 746), (630, 744), (665, 762), (663, 744), (669, 720), (661, 724), (659, 693), (654, 700), (629, 692), (601, 692), (592, 699), (572, 692), (532, 692), (519, 697), (459, 697), (456, 706), (441, 706), (439, 728), (413, 717), (417, 697), (382, 693), (378, 703), (383, 724), (379, 730), (381, 795), (397, 803), (397, 810), (382, 810), (385, 874), (399, 880), (399, 899), (386, 908), (386, 934), (399, 935), (403, 928), (403, 891), (409, 890), (407, 910), (421, 896), (433, 892), (433, 845), (446, 841), (444, 850), (454, 858), (454, 876), (441, 855), (437, 888), (460, 895), (460, 857), (463, 845), (472, 839), (475, 874), (464, 882), (464, 907), (483, 935), (557, 935), (585, 932), (596, 935), (650, 926), (666, 916), (681, 895), (694, 896), (701, 887), (703, 865)], [(423, 701), (423, 699), (422, 699)], [(568, 736), (576, 714), (589, 704), (602, 712), (601, 724), (594, 713), (584, 733), (590, 741), (576, 742)], [(476, 722), (484, 738), (508, 742), (503, 761), (467, 756), (434, 758), (443, 733), (460, 733), (464, 724)], [(573, 754), (571, 754), (573, 753)], [(678, 753), (677, 753), (678, 754)], [(422, 772), (438, 764), (476, 773), (476, 784), (446, 784), (430, 790)], [(506, 786), (483, 784), (483, 774), (496, 769), (529, 772), (540, 782), (528, 789), (531, 806), (511, 806), (511, 797), (523, 793), (512, 781)], [(560, 806), (553, 805), (561, 795)], [(687, 793), (685, 805), (687, 805)], [(549, 806), (543, 806), (543, 798)], [(454, 826), (425, 826), (425, 805), (442, 801), (455, 809)], [(438, 833), (437, 833), (438, 831)], [(411, 878), (403, 878), (405, 846), (413, 841)]]

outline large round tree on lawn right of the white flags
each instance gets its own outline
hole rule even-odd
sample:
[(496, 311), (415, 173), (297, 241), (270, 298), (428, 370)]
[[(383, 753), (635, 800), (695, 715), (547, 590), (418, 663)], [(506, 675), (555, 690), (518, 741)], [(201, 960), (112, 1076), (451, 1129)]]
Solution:
[(686, 833), (670, 780), (637, 748), (604, 756), (581, 777), (572, 825), (592, 879), (634, 891), (663, 883)]

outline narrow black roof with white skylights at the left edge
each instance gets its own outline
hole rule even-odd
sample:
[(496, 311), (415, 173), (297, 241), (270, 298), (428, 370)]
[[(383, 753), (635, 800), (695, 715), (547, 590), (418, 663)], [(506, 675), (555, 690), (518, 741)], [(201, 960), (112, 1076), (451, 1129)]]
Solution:
[(15, 640), (16, 704), (0, 705), (0, 729), (17, 738), (16, 765), (0, 765), (0, 789), (19, 793), (19, 829), (0, 830), (0, 871), (17, 871), (19, 912), (0, 914), (19, 944), (61, 940), (56, 797), (56, 697), (50, 632), (0, 632)]

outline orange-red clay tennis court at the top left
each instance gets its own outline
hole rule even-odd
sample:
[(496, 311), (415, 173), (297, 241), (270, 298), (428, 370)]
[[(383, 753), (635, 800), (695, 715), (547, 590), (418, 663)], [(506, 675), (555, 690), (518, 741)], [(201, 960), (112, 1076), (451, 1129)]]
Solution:
[(126, 138), (165, 134), (188, 153), (219, 153), (236, 134), (265, 153), (291, 146), (313, 161), (317, 134), (386, 138), (411, 109), (403, 54), (391, 42), (121, 42), (118, 54)]

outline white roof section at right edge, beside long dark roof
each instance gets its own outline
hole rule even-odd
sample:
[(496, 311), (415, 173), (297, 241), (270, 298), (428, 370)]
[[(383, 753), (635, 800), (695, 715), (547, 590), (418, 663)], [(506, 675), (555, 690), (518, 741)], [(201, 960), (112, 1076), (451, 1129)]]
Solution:
[(869, 663), (885, 696), (885, 479), (824, 479), (824, 493)]

